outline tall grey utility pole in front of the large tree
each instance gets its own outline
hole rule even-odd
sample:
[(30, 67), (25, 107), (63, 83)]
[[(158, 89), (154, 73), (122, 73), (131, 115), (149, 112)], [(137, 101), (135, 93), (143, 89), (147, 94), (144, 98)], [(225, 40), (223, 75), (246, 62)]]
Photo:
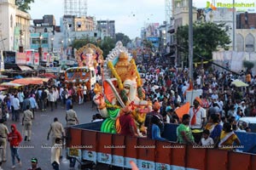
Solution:
[(189, 78), (193, 82), (193, 0), (189, 0)]

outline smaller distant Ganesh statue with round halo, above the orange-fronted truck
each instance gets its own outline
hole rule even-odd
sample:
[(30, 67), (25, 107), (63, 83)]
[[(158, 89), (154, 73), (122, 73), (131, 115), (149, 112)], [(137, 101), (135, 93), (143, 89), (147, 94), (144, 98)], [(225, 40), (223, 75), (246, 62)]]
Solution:
[(79, 48), (75, 56), (79, 63), (79, 67), (88, 66), (95, 67), (103, 62), (103, 52), (101, 48), (97, 48), (94, 44), (88, 43), (84, 47)]

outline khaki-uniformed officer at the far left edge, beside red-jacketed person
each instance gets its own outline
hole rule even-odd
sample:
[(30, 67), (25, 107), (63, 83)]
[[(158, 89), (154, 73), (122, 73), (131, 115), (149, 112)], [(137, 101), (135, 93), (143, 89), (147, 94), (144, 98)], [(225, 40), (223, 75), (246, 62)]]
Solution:
[(4, 120), (0, 119), (0, 160), (6, 161), (6, 139), (9, 134), (8, 127), (3, 124)]

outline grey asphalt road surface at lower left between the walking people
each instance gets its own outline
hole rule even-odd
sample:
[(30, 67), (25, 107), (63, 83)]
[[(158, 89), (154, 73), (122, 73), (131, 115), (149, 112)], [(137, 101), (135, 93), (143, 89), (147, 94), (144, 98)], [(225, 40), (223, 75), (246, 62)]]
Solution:
[[(92, 116), (96, 114), (96, 108), (91, 108), (91, 101), (87, 101), (84, 105), (73, 105), (73, 110), (77, 112), (79, 117), (79, 124), (91, 122)], [(46, 111), (36, 111), (35, 119), (32, 121), (32, 139), (31, 141), (22, 141), (19, 148), (20, 159), (22, 162), (22, 166), (16, 164), (15, 169), (27, 170), (31, 167), (31, 158), (38, 158), (38, 167), (41, 167), (43, 170), (51, 170), (50, 163), (50, 148), (45, 148), (44, 146), (50, 144), (50, 139), (47, 140), (47, 133), (49, 131), (49, 125), (53, 122), (55, 117), (58, 117), (59, 122), (62, 123), (63, 127), (66, 126), (65, 121), (66, 107), (58, 103), (58, 108), (54, 111), (50, 111), (48, 107)], [(21, 115), (20, 115), (21, 116)], [(24, 139), (23, 127), (21, 126), (21, 118), (20, 122), (12, 122), (11, 119), (7, 122), (7, 127), (10, 130), (10, 125), (15, 123), (18, 130), (20, 131), (22, 138)], [(7, 161), (3, 163), (3, 169), (9, 170), (12, 169), (11, 156), (9, 143), (7, 144)], [(69, 169), (69, 161), (66, 159), (65, 152), (62, 152), (63, 158), (61, 159), (61, 170)], [(17, 160), (15, 160), (17, 163)], [(76, 169), (78, 163), (76, 164)]]

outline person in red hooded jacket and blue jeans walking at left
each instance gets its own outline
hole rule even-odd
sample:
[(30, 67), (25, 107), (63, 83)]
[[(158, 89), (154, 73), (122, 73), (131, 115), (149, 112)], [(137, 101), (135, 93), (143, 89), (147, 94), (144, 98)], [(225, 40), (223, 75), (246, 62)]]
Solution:
[(21, 161), (20, 161), (20, 155), (18, 152), (18, 147), (20, 145), (20, 142), (22, 141), (22, 137), (20, 135), (20, 132), (17, 130), (16, 125), (12, 124), (11, 125), (11, 132), (8, 134), (8, 141), (9, 141), (9, 146), (11, 150), (11, 156), (12, 156), (12, 168), (15, 168), (15, 157), (18, 160), (18, 163), (20, 164), (21, 167)]

